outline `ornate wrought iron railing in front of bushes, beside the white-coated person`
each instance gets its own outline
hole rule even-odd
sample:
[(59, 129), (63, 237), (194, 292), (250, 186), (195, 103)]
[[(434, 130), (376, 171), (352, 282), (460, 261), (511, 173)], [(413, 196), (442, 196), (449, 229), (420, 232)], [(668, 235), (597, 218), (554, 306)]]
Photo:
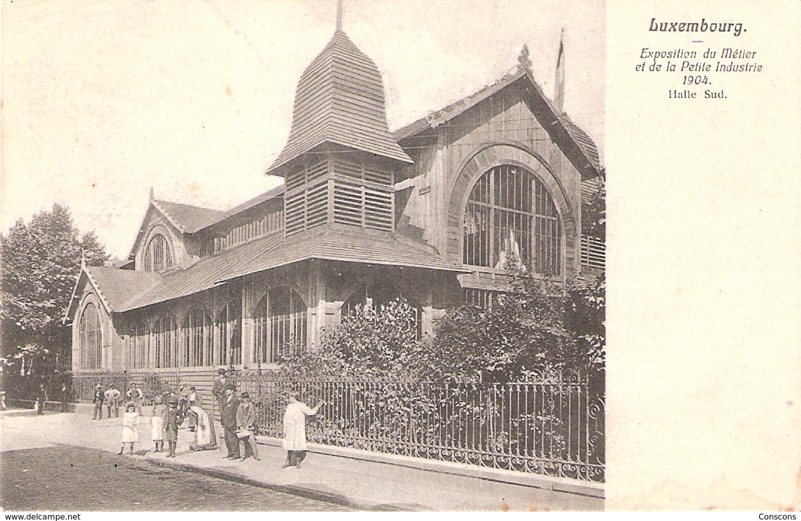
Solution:
[(235, 375), (257, 404), (260, 434), (283, 435), (288, 393), (309, 406), (307, 438), (333, 446), (604, 481), (604, 402), (575, 372), (520, 382), (294, 381)]

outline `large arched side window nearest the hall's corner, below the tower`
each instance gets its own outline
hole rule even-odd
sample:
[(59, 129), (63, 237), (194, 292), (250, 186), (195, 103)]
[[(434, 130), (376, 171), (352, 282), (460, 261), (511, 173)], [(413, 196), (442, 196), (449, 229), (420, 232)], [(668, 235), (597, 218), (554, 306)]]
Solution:
[(275, 363), (288, 344), (306, 345), (306, 305), (291, 288), (274, 288), (253, 312), (254, 353), (257, 362)]

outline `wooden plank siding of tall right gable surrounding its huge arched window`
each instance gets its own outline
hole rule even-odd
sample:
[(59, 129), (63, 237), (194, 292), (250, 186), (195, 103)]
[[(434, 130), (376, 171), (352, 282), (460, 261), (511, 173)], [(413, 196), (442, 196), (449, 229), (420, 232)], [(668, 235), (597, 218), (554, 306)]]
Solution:
[(406, 217), (450, 261), (461, 261), (461, 216), (473, 182), (497, 164), (518, 164), (540, 176), (560, 208), (570, 275), (578, 272), (581, 176), (529, 110), (525, 95), (513, 83), (432, 130), (437, 142), (417, 150), (416, 164), (407, 168), (413, 169), (417, 201), (407, 204)]

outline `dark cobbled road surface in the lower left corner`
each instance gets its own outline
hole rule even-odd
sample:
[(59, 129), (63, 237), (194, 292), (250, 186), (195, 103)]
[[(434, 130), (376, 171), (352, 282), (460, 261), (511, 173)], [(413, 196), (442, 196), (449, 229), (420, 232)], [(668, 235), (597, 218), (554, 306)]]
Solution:
[(75, 446), (4, 451), (0, 468), (6, 511), (351, 510)]

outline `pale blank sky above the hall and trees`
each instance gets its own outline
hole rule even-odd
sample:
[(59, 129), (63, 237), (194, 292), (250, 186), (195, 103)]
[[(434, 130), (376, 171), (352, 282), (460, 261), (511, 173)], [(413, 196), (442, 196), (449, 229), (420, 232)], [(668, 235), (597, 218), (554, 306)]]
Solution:
[[(575, 0), (344, 0), (394, 130), (500, 79), (529, 46), (604, 151), (605, 6)], [(2, 0), (2, 232), (56, 202), (128, 256), (155, 197), (227, 209), (275, 187), (304, 67), (336, 0)]]

